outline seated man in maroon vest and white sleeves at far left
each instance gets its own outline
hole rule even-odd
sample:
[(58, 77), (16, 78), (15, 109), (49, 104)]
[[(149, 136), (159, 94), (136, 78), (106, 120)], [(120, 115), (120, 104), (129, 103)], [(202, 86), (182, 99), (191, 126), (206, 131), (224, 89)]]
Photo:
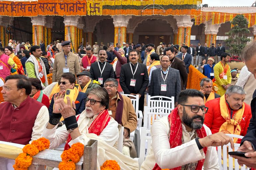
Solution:
[(41, 137), (49, 121), (47, 107), (31, 98), (31, 83), (24, 75), (7, 76), (0, 104), (0, 141), (28, 144)]

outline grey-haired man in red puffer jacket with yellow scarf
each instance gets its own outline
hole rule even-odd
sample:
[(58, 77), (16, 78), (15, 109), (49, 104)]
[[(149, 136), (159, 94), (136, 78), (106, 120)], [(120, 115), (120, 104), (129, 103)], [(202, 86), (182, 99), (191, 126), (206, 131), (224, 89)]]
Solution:
[[(237, 85), (230, 86), (225, 95), (205, 103), (209, 107), (204, 124), (211, 132), (245, 136), (252, 117), (251, 108), (244, 103), (246, 92)], [(241, 140), (234, 139), (240, 143)]]

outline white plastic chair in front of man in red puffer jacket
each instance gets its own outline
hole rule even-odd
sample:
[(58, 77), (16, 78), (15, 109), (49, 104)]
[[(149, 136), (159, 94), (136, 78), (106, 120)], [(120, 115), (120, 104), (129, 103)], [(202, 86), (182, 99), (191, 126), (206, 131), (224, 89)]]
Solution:
[[(242, 139), (243, 136), (240, 135), (233, 135), (233, 134), (225, 134), (231, 138), (238, 138), (238, 139)], [(237, 149), (239, 148), (240, 143), (234, 143), (234, 151), (237, 151)], [(232, 152), (233, 150), (231, 149), (231, 145), (230, 143), (223, 145), (222, 148), (221, 146), (218, 146), (218, 158), (219, 158), (219, 166), (221, 167), (221, 153), (222, 153), (222, 159), (223, 159), (223, 170), (232, 170), (233, 169), (233, 158), (228, 155), (228, 167), (227, 167), (227, 148), (228, 148), (228, 152)], [(235, 170), (249, 170), (250, 168), (246, 168), (245, 165), (241, 166), (241, 168), (239, 168), (239, 164), (237, 162), (237, 159), (235, 159)]]

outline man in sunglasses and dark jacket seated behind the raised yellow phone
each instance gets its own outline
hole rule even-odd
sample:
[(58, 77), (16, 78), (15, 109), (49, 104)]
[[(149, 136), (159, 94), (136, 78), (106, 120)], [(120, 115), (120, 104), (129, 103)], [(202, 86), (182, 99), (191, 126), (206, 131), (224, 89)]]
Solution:
[[(74, 105), (73, 108), (75, 109), (75, 115), (78, 115), (80, 113), (82, 113), (82, 111), (84, 111), (85, 109), (85, 101), (84, 99), (86, 98), (86, 94), (83, 92), (78, 91), (77, 88), (75, 87), (75, 76), (71, 73), (64, 73), (61, 77), (61, 80), (59, 82), (59, 88), (58, 88), (58, 84), (55, 85), (57, 86), (55, 89), (59, 90), (56, 91), (56, 93), (58, 94), (59, 92), (65, 92), (66, 89), (74, 89), (75, 90), (75, 95), (72, 99), (72, 101), (74, 101)], [(54, 93), (54, 94), (56, 94)], [(49, 106), (49, 115), (51, 116), (53, 113), (53, 109), (55, 107), (55, 103), (54, 103), (54, 94), (52, 95), (51, 98), (51, 103)], [(65, 94), (65, 93), (64, 93)], [(63, 95), (64, 97), (64, 95)]]

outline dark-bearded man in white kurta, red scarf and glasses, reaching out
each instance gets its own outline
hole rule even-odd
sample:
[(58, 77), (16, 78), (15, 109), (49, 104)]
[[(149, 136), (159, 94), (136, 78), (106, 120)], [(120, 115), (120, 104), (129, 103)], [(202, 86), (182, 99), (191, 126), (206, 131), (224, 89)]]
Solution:
[(195, 89), (181, 91), (178, 106), (168, 116), (154, 121), (152, 147), (140, 170), (204, 169), (219, 170), (216, 146), (231, 143), (224, 133), (211, 135), (203, 125), (208, 108), (204, 95)]

